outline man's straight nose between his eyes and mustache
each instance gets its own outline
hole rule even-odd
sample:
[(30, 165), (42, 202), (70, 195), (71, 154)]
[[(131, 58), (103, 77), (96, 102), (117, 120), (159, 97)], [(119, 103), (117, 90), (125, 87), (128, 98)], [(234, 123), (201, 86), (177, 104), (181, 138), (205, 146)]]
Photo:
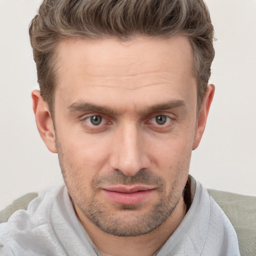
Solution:
[(149, 167), (146, 149), (142, 131), (134, 124), (123, 124), (114, 135), (110, 165), (127, 176), (133, 176), (140, 169)]

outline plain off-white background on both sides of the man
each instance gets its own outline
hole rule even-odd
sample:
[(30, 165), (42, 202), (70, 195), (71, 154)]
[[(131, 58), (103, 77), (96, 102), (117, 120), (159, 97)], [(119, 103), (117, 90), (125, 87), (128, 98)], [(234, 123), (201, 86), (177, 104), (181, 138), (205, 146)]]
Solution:
[[(0, 209), (62, 182), (36, 129), (28, 24), (40, 0), (0, 0)], [(206, 0), (215, 28), (216, 86), (190, 173), (206, 187), (256, 195), (256, 0)]]

